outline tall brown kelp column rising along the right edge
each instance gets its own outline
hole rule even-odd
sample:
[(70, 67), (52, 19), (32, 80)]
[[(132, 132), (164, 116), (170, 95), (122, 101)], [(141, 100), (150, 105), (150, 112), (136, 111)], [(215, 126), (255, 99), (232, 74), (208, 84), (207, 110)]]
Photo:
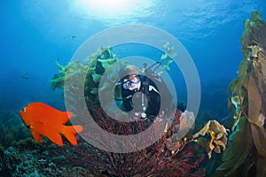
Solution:
[(252, 12), (244, 27), (239, 77), (229, 88), (234, 124), (215, 176), (266, 176), (266, 23), (261, 12)]

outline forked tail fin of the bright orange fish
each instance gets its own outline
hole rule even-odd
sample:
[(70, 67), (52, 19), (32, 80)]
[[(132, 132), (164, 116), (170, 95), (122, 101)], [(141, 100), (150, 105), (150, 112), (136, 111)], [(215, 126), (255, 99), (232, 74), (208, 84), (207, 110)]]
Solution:
[(82, 126), (64, 126), (62, 134), (75, 146), (77, 145), (75, 134), (81, 133), (82, 130)]

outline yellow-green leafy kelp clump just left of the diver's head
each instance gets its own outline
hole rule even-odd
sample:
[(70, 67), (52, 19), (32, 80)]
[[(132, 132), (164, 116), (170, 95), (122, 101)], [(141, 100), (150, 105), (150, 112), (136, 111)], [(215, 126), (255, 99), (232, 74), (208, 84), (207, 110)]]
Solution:
[[(109, 89), (110, 81), (112, 81), (114, 74), (118, 72), (118, 68), (114, 65), (119, 58), (113, 55), (113, 50), (109, 47), (99, 48), (97, 53), (91, 54), (88, 58), (82, 59), (82, 61), (73, 61), (68, 65), (60, 65), (59, 73), (54, 74), (51, 79), (51, 89), (63, 89), (65, 84), (69, 84), (72, 87), (67, 89), (66, 92), (72, 93), (74, 89), (77, 89), (79, 86), (76, 84), (77, 80), (82, 78), (82, 75), (85, 73), (86, 78), (84, 81), (84, 96), (87, 99), (90, 99), (94, 104), (98, 104), (98, 85), (99, 81), (105, 80), (105, 87), (101, 88), (100, 91)], [(112, 68), (109, 66), (112, 65)], [(124, 64), (121, 64), (124, 65)], [(108, 71), (106, 71), (106, 69)], [(103, 73), (107, 72), (105, 76)], [(106, 78), (102, 78), (106, 77)], [(66, 88), (65, 88), (66, 89)]]

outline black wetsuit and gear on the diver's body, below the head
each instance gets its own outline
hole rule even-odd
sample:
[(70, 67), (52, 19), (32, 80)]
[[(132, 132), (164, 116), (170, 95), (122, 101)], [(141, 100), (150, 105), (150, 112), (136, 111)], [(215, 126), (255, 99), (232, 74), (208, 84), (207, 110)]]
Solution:
[[(121, 88), (124, 111), (144, 112), (143, 103), (145, 104), (145, 114), (148, 119), (153, 119), (160, 112), (169, 113), (175, 106), (172, 104), (172, 95), (167, 85), (161, 81), (160, 77), (153, 74), (154, 77), (148, 78), (145, 75), (139, 75), (141, 86), (138, 90), (129, 90)], [(143, 96), (143, 94), (145, 96)]]

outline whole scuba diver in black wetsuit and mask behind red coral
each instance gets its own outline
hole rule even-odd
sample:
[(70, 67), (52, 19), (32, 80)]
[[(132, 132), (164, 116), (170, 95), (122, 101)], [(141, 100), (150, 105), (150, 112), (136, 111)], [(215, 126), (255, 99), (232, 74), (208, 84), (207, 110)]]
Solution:
[(160, 76), (151, 69), (154, 65), (146, 68), (138, 68), (135, 65), (126, 65), (121, 68), (119, 77), (121, 80), (116, 85), (121, 85), (120, 108), (124, 112), (133, 112), (138, 120), (154, 120), (160, 115), (168, 115), (176, 109), (173, 104), (173, 96), (167, 85)]

